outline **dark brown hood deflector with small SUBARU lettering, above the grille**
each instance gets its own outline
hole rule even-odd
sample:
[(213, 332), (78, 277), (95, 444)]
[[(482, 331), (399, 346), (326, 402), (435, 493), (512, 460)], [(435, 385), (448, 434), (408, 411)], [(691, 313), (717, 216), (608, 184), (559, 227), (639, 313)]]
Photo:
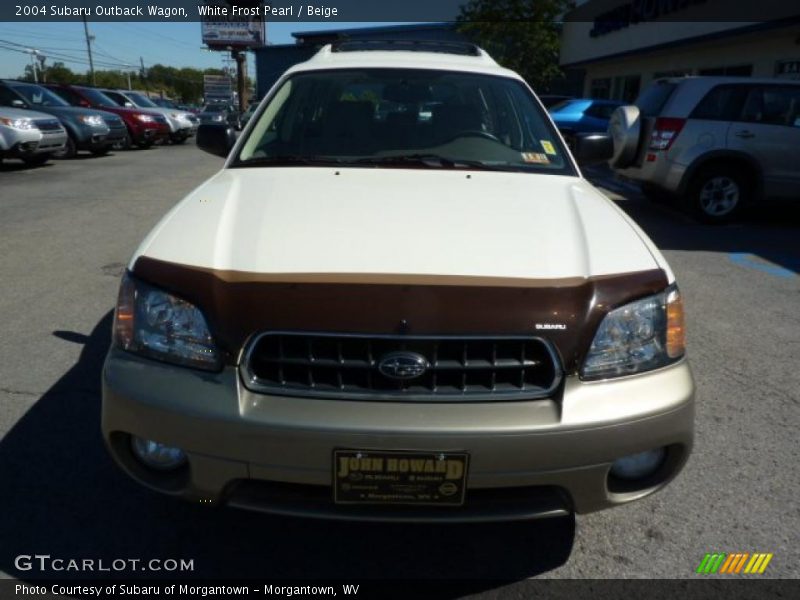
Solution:
[(134, 275), (198, 306), (228, 364), (268, 330), (536, 335), (575, 372), (611, 309), (667, 287), (661, 269), (589, 278), (259, 274), (139, 257)]

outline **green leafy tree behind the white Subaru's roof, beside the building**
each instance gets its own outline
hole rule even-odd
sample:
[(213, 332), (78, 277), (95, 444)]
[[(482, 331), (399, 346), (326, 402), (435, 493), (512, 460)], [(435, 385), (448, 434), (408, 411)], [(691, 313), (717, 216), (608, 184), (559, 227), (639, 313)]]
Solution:
[(469, 0), (457, 27), (541, 92), (562, 76), (561, 20), (573, 6), (573, 0)]

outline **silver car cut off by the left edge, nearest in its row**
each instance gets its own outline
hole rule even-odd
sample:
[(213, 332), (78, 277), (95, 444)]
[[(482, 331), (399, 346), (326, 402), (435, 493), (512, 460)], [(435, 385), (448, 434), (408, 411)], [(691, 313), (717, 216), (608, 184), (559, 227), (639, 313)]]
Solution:
[(44, 113), (0, 107), (0, 162), (19, 158), (42, 165), (64, 149), (67, 131), (58, 119)]

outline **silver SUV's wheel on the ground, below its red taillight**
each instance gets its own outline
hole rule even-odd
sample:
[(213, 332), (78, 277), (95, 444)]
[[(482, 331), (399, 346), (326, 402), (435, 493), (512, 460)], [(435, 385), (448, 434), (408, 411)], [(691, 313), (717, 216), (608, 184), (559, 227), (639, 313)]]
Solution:
[(749, 202), (750, 179), (736, 169), (715, 165), (702, 169), (694, 177), (686, 194), (692, 213), (704, 223), (730, 221)]

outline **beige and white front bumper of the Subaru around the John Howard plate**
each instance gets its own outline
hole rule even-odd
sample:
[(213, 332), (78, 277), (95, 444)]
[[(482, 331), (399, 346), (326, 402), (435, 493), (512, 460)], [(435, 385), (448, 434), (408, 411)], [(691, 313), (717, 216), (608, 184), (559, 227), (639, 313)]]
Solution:
[[(587, 513), (647, 496), (668, 483), (692, 446), (688, 363), (584, 383), (558, 397), (461, 404), (364, 402), (255, 394), (236, 369), (210, 374), (112, 349), (103, 371), (102, 429), (134, 479), (192, 501), (282, 514), (380, 520), (474, 521)], [(129, 434), (183, 448), (188, 466), (143, 467)], [(638, 486), (609, 478), (622, 456), (667, 447)], [(461, 508), (342, 507), (331, 500), (335, 448), (466, 451)]]

